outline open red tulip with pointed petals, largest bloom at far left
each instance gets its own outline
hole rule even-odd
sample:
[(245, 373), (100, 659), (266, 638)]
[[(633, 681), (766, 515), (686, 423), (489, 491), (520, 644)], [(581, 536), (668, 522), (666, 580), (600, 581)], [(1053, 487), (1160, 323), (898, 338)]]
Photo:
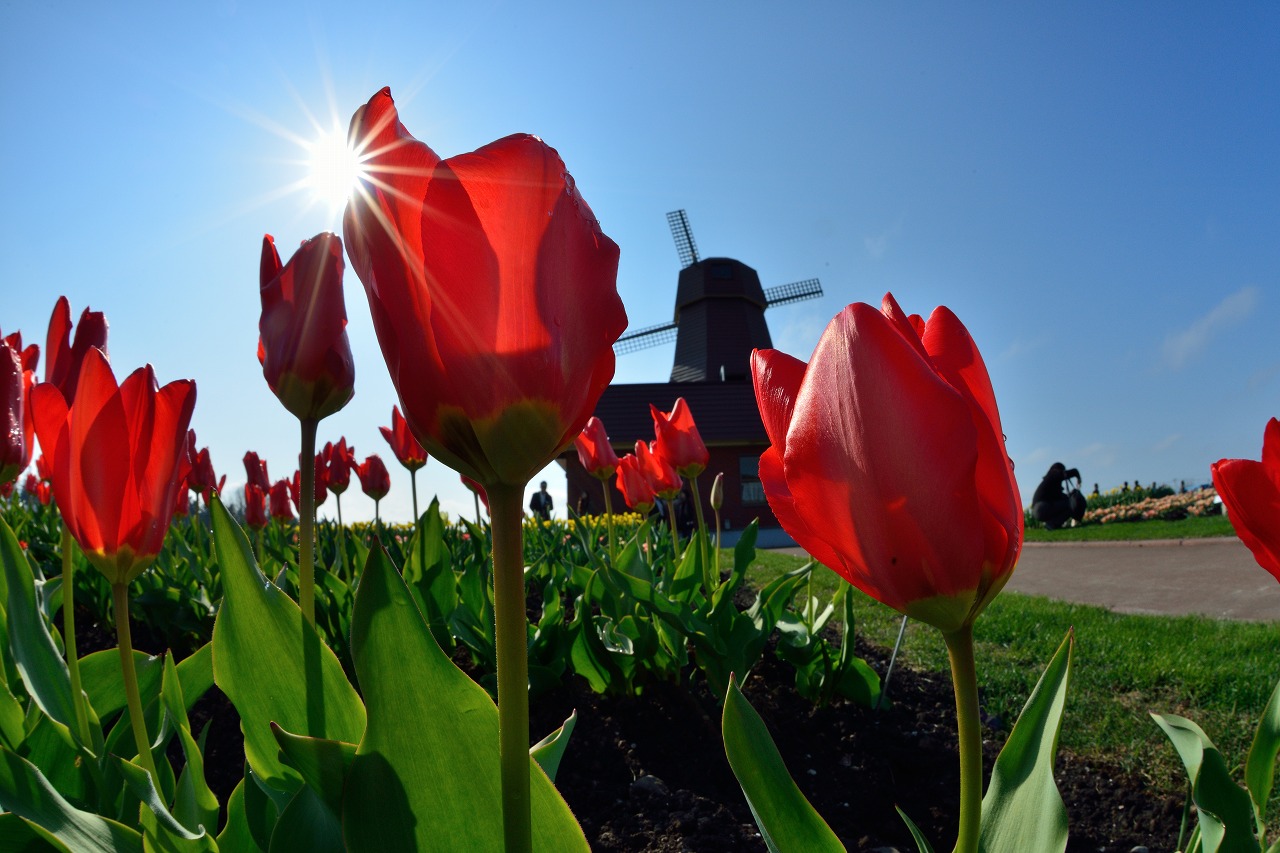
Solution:
[(188, 465), (196, 383), (156, 388), (147, 365), (116, 386), (106, 356), (91, 350), (69, 407), (51, 382), (36, 386), (32, 401), (67, 528), (108, 580), (128, 583), (164, 544)]

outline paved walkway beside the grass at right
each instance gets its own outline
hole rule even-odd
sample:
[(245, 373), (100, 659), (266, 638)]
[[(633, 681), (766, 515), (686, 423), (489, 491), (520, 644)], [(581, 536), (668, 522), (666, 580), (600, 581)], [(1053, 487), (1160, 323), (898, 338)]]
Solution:
[(1280, 620), (1280, 583), (1235, 538), (1032, 542), (1005, 589), (1121, 613)]

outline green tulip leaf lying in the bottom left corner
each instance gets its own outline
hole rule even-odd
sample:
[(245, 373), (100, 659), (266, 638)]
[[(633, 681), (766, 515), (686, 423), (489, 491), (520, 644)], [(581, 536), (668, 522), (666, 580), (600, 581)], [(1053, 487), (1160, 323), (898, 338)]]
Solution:
[(35, 765), (8, 749), (0, 749), (0, 808), (42, 827), (76, 853), (142, 852), (137, 831), (76, 808)]

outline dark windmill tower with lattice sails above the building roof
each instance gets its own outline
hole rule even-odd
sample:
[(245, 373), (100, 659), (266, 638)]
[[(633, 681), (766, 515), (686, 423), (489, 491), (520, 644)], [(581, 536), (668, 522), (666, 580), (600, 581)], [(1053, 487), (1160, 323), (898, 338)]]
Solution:
[(769, 348), (764, 310), (822, 296), (817, 278), (760, 287), (760, 277), (731, 257), (699, 257), (684, 210), (667, 214), (680, 256), (676, 310), (671, 323), (628, 332), (613, 345), (626, 355), (676, 342), (671, 382), (724, 382), (750, 375), (751, 350)]

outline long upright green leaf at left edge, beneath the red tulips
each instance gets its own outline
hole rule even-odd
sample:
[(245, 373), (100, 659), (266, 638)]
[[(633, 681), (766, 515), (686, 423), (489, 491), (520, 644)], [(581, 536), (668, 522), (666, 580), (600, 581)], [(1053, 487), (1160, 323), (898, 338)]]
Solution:
[(6, 621), (9, 649), (31, 698), (40, 710), (69, 729), (76, 727), (72, 681), (54, 643), (40, 599), (31, 564), (9, 524), (0, 519), (0, 565), (8, 588)]

